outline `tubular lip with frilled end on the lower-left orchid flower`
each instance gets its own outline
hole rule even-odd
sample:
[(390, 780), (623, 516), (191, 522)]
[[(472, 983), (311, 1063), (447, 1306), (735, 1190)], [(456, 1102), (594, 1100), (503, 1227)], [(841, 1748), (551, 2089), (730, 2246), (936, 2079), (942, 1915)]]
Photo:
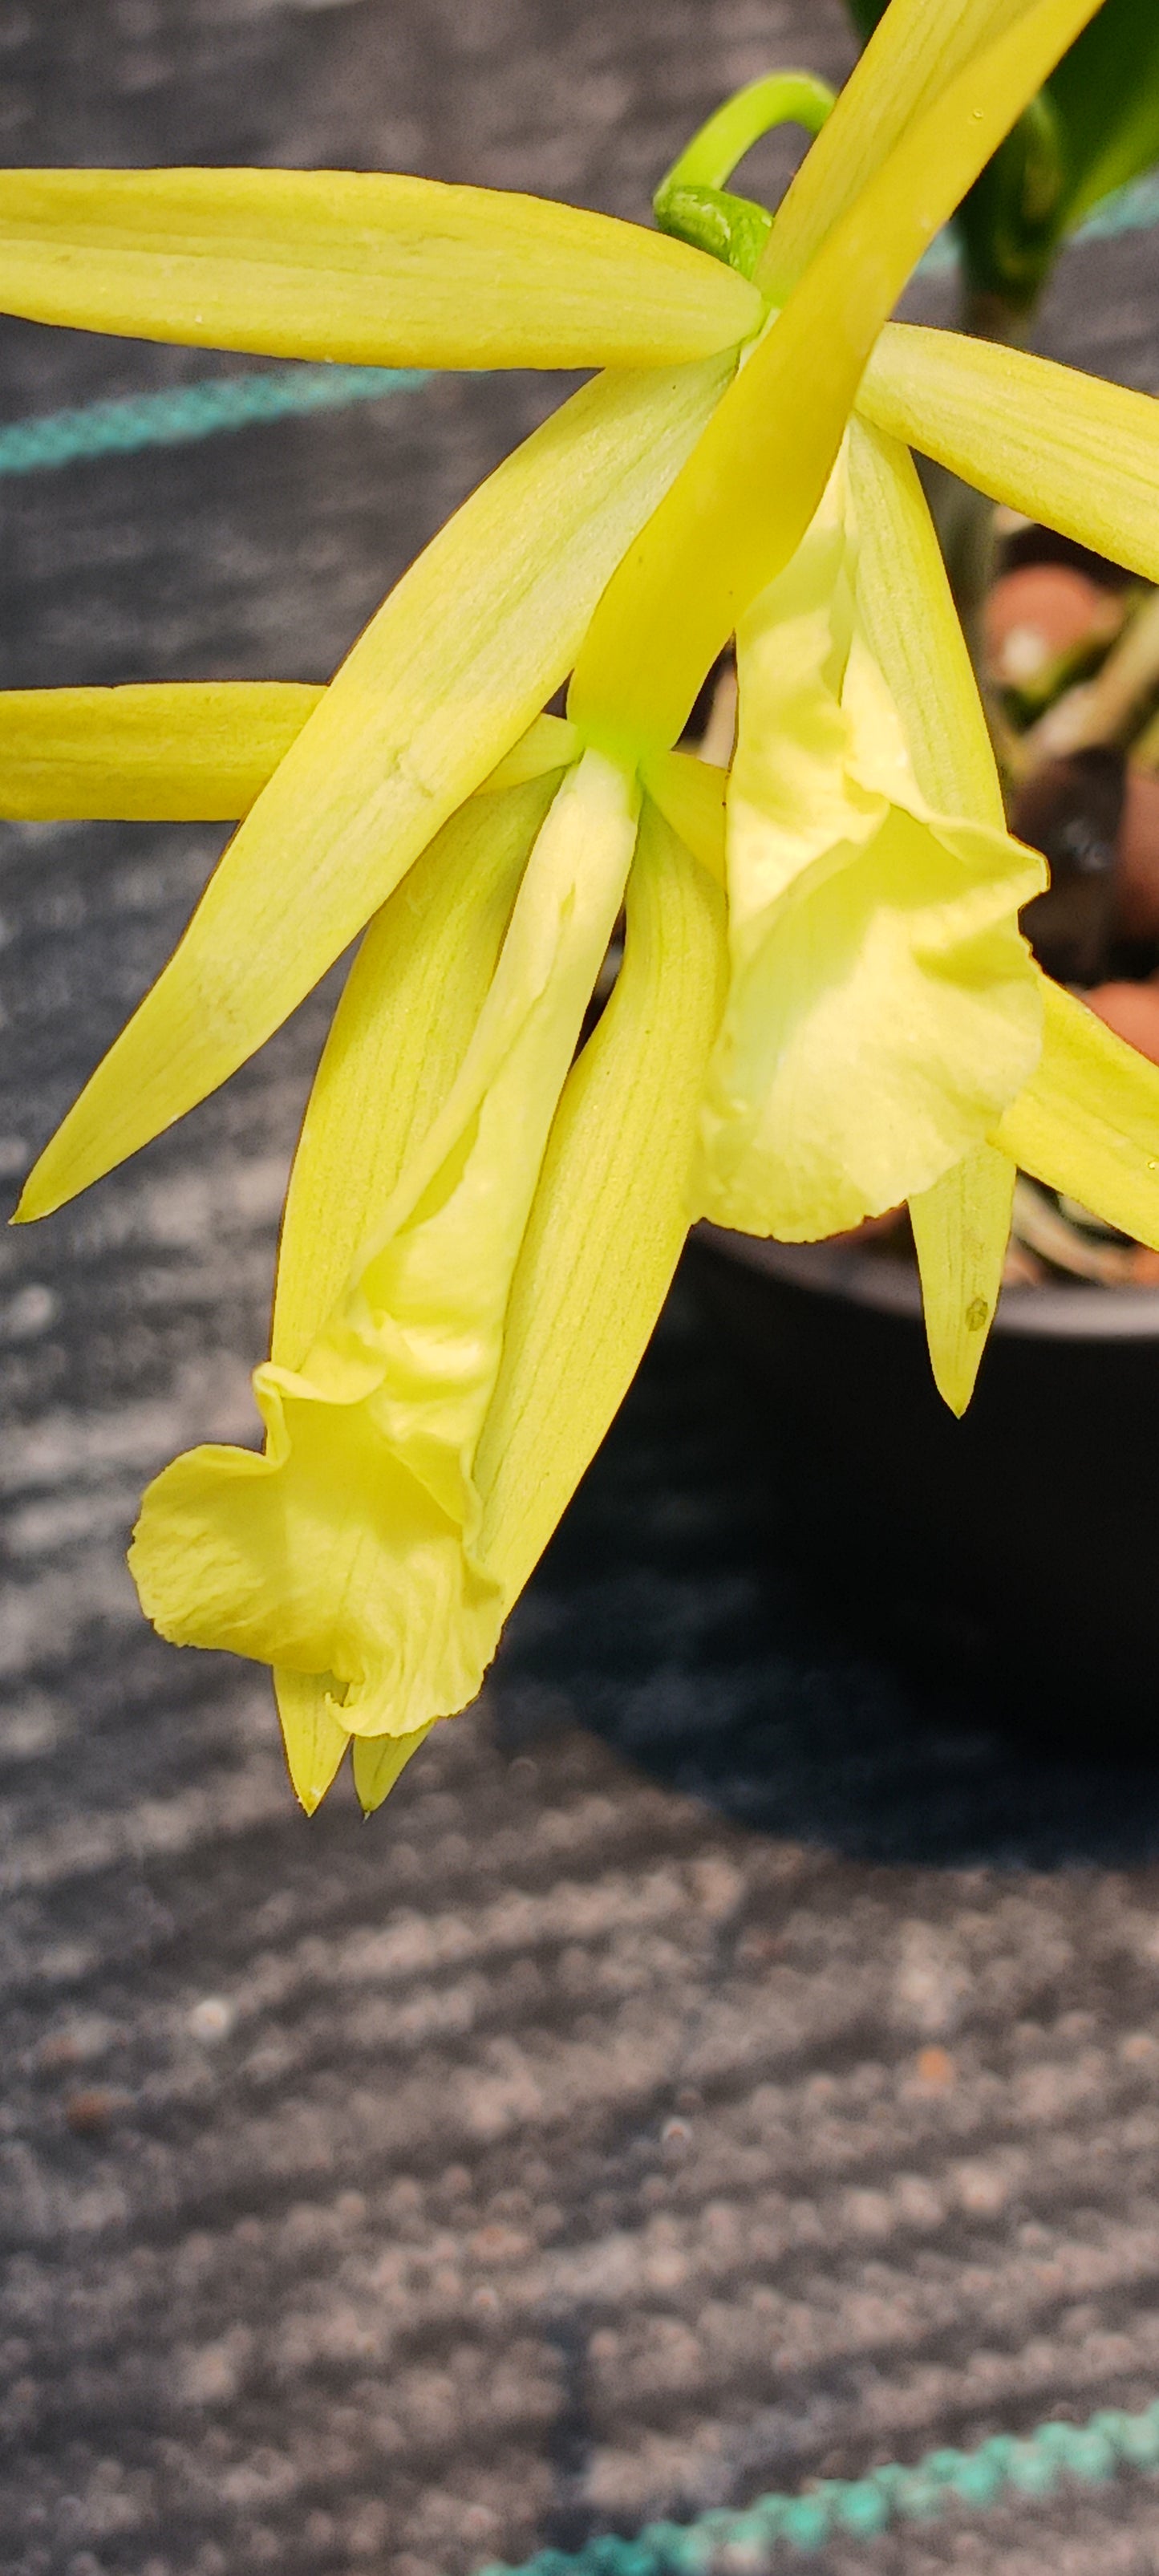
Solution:
[(425, 1139), (301, 1368), (255, 1373), (268, 1448), (178, 1458), (131, 1569), (178, 1643), (327, 1677), (350, 1734), (410, 1736), (479, 1690), (502, 1587), (474, 1450), (556, 1097), (636, 840), (600, 752), (536, 837), (495, 981)]

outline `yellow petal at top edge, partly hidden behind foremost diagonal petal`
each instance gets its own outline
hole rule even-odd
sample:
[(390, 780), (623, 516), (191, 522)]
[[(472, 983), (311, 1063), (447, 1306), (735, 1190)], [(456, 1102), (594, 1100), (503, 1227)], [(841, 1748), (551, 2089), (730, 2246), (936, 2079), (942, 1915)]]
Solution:
[(829, 224), (881, 170), (907, 124), (1025, 10), (1028, 0), (958, 0), (956, 8), (891, 0), (778, 206), (760, 263), (770, 294), (796, 286)]

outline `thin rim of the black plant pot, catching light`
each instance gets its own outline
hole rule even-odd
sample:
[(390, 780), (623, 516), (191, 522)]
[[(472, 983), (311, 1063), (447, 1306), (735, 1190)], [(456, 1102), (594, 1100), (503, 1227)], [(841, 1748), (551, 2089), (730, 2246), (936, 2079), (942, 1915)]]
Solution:
[[(775, 1244), (731, 1234), (701, 1218), (693, 1242), (744, 1270), (811, 1288), (816, 1296), (876, 1306), (922, 1321), (922, 1291), (909, 1262), (860, 1252), (855, 1244)], [(1051, 1288), (1002, 1288), (994, 1332), (1046, 1342), (1159, 1342), (1159, 1288), (1102, 1288), (1097, 1280)]]

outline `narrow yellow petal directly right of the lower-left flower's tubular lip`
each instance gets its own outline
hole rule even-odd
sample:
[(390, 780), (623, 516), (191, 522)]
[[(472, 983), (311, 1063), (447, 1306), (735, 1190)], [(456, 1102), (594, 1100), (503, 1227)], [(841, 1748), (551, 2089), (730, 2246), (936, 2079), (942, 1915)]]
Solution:
[(724, 902), (644, 801), (623, 966), (551, 1128), (476, 1455), (505, 1605), (543, 1553), (664, 1303), (724, 1002)]

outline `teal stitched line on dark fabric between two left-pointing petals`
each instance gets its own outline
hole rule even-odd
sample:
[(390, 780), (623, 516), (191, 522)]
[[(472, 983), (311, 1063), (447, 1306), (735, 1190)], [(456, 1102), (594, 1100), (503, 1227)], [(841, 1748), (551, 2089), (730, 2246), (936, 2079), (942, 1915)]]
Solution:
[(90, 402), (77, 412), (46, 412), (0, 428), (0, 474), (39, 474), (85, 456), (131, 456), (137, 448), (175, 448), (219, 430), (245, 430), (252, 420), (288, 420), (330, 412), (348, 402), (415, 394), (430, 368), (394, 366), (281, 366), (245, 376), (206, 376), (165, 394), (129, 394)]

